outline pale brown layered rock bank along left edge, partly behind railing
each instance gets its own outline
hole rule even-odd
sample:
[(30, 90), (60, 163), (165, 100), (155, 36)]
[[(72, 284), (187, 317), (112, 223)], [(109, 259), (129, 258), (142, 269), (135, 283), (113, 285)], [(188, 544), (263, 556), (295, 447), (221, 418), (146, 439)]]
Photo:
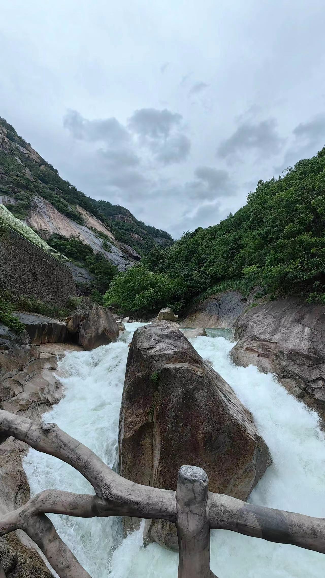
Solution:
[[(48, 343), (42, 349), (28, 343), (28, 335), (27, 343), (25, 335), (11, 339), (8, 331), (7, 336), (5, 345), (0, 346), (0, 409), (39, 421), (63, 396), (63, 388), (54, 375), (57, 355), (46, 350), (47, 346), (63, 344)], [(21, 464), (21, 452), (27, 449), (26, 444), (10, 437), (0, 438), (0, 516), (29, 499), (28, 481)], [(24, 532), (0, 538), (0, 560), (6, 578), (52, 576)]]

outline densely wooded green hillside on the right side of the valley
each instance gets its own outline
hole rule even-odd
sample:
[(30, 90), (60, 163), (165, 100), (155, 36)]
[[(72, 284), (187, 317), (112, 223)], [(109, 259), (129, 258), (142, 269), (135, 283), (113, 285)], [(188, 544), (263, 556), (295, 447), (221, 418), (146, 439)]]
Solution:
[[(146, 282), (132, 296), (131, 309), (157, 303), (153, 279), (143, 268), (173, 280), (175, 293), (169, 286), (166, 298), (171, 305), (231, 287), (248, 294), (254, 286), (274, 296), (296, 294), (325, 303), (324, 169), (325, 148), (285, 176), (260, 180), (246, 205), (218, 225), (185, 232), (168, 249), (152, 249), (141, 263)], [(122, 302), (130, 275), (115, 277), (106, 303)]]

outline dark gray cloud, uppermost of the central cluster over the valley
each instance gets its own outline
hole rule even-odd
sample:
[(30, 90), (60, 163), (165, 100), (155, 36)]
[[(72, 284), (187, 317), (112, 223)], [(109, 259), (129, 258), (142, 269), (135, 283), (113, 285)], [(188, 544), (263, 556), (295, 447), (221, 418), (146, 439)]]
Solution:
[(128, 127), (139, 136), (152, 139), (167, 138), (171, 130), (180, 124), (182, 114), (167, 109), (153, 108), (136, 110), (128, 122)]

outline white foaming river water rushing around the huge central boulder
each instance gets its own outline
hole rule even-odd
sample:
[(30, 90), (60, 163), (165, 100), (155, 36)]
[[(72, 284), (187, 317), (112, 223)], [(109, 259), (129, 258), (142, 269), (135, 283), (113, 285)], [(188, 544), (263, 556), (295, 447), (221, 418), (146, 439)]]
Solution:
[[(113, 468), (128, 343), (140, 323), (127, 324), (123, 340), (94, 351), (71, 352), (60, 362), (65, 398), (46, 415)], [(287, 394), (271, 374), (232, 365), (233, 343), (221, 336), (191, 340), (249, 407), (274, 464), (250, 502), (325, 517), (325, 439), (317, 414)], [(24, 460), (33, 493), (59, 488), (94, 493), (71, 466), (30, 450)], [(61, 538), (93, 578), (176, 578), (178, 555), (157, 544), (142, 546), (141, 529), (124, 540), (118, 518), (50, 516)], [(325, 556), (235, 532), (211, 533), (211, 568), (219, 578), (319, 578)]]

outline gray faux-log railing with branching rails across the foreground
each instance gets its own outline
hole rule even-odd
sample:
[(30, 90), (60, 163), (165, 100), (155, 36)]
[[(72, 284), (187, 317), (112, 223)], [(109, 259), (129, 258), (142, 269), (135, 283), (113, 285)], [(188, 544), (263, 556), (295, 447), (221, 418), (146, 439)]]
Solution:
[[(45, 490), (18, 510), (0, 517), (0, 536), (24, 530), (60, 578), (91, 578), (45, 515), (163, 518), (176, 524), (178, 578), (216, 578), (210, 570), (210, 529), (226, 529), (270, 542), (294, 544), (325, 554), (325, 518), (254, 506), (208, 491), (201, 468), (182, 466), (176, 492), (135, 484), (117, 475), (82, 443), (56, 424), (38, 424), (0, 410), (0, 443), (13, 436), (78, 470), (95, 495)], [(0, 578), (5, 572), (0, 562)], [(222, 578), (220, 576), (220, 578)]]

